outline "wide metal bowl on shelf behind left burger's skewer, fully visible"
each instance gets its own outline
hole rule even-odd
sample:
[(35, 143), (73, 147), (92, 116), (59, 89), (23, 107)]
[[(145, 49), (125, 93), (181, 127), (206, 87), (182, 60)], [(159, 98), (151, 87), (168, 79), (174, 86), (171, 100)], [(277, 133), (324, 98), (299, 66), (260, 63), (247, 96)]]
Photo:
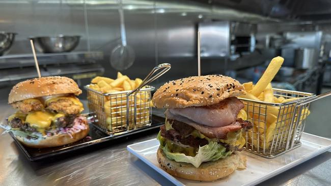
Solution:
[(70, 52), (76, 48), (80, 36), (32, 37), (35, 48), (43, 53)]

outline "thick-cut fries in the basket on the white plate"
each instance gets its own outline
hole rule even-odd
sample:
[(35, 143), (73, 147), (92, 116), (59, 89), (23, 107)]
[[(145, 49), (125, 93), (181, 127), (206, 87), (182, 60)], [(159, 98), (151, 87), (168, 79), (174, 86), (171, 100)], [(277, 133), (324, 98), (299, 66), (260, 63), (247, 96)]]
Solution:
[[(252, 145), (254, 148), (265, 148), (269, 149), (272, 140), (285, 140), (289, 135), (289, 125), (294, 122), (297, 125), (301, 125), (301, 121), (306, 119), (310, 114), (308, 108), (304, 108), (301, 112), (295, 111), (295, 105), (288, 104), (284, 106), (273, 106), (270, 104), (264, 104), (263, 102), (282, 104), (295, 101), (299, 98), (290, 97), (291, 95), (284, 95), (275, 97), (273, 95), (273, 89), (271, 86), (271, 80), (277, 74), (281, 68), (284, 59), (282, 57), (275, 57), (271, 60), (265, 73), (261, 79), (254, 85), (252, 82), (243, 83), (246, 94), (240, 96), (257, 102), (244, 101), (244, 109), (246, 115), (241, 111), (238, 117), (241, 118), (246, 116), (246, 120), (251, 121), (254, 124), (253, 129), (249, 132), (243, 132), (242, 135), (247, 139), (247, 143)], [(261, 102), (263, 101), (263, 102)], [(298, 117), (300, 115), (300, 117)], [(299, 121), (297, 121), (299, 119)], [(279, 136), (279, 134), (281, 134)], [(283, 138), (283, 139), (280, 139)]]

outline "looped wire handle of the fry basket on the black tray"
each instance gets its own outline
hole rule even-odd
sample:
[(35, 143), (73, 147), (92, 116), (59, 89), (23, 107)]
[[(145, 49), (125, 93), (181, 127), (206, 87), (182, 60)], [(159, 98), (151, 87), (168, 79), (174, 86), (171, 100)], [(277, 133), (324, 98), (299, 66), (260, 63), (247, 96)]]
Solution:
[[(130, 91), (127, 96), (130, 96), (131, 94), (136, 94), (136, 92), (138, 92), (142, 87), (148, 85), (150, 82), (154, 81), (155, 79), (159, 78), (160, 76), (162, 76), (164, 73), (168, 72), (171, 68), (170, 64), (160, 64), (156, 67), (154, 67), (154, 69), (146, 76), (146, 78), (143, 80), (142, 84), (140, 84), (138, 87), (136, 87), (134, 90)], [(157, 73), (156, 75), (152, 76), (153, 74), (155, 74), (158, 70), (162, 69), (161, 72)]]

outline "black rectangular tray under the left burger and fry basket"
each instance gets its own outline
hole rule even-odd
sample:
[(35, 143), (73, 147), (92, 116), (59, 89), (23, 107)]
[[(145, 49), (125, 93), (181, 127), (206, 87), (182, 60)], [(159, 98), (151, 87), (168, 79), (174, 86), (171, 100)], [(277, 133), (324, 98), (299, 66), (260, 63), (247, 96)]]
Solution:
[(27, 159), (29, 159), (30, 161), (42, 161), (42, 160), (54, 158), (56, 156), (64, 155), (76, 151), (78, 149), (83, 149), (88, 147), (92, 148), (93, 146), (100, 143), (105, 143), (105, 142), (113, 141), (115, 139), (134, 135), (136, 133), (141, 133), (152, 129), (156, 129), (163, 124), (164, 124), (164, 118), (153, 115), (151, 126), (143, 127), (120, 135), (109, 136), (108, 134), (101, 131), (98, 127), (96, 127), (94, 124), (90, 123), (90, 132), (88, 137), (68, 145), (50, 147), (50, 148), (31, 148), (31, 147), (23, 146), (21, 142), (19, 142), (16, 139), (13, 133), (10, 132), (9, 134), (14, 139), (17, 146), (22, 150), (22, 152), (24, 153)]

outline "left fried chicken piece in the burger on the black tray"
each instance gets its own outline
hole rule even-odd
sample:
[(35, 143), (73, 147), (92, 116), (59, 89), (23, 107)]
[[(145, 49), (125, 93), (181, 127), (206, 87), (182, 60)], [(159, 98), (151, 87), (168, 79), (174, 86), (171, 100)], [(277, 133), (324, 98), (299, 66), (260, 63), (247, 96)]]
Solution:
[(32, 111), (41, 110), (44, 108), (44, 105), (40, 102), (40, 100), (35, 98), (15, 102), (12, 103), (11, 106), (13, 106), (15, 109), (18, 109), (24, 114), (27, 114)]

